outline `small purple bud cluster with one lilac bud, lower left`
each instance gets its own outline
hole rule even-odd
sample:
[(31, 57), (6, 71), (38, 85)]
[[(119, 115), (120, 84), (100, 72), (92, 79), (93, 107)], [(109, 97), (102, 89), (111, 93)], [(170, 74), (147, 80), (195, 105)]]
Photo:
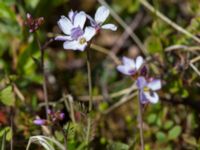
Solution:
[(57, 112), (54, 112), (52, 110), (48, 110), (48, 116), (49, 116), (49, 120), (46, 120), (46, 119), (41, 119), (41, 118), (36, 118), (33, 123), (35, 125), (50, 125), (50, 124), (54, 124), (54, 123), (57, 123), (59, 121), (62, 121), (65, 117), (65, 114), (60, 112), (60, 111), (57, 111)]

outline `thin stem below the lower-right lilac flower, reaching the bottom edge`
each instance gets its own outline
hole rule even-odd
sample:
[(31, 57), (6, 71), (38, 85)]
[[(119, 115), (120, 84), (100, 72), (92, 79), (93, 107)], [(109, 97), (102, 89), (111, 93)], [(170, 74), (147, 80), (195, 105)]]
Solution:
[(144, 150), (144, 135), (143, 135), (143, 119), (142, 119), (142, 105), (140, 103), (138, 94), (138, 119), (139, 119), (139, 129), (140, 129), (140, 143), (141, 150)]

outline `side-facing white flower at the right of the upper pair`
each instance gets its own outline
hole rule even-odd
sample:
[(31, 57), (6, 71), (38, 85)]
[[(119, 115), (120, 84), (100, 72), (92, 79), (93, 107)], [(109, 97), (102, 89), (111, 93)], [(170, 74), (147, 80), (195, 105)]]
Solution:
[(87, 15), (88, 19), (90, 20), (91, 26), (96, 29), (96, 31), (100, 29), (109, 29), (112, 31), (116, 31), (117, 27), (114, 24), (105, 24), (102, 25), (105, 20), (108, 18), (110, 11), (105, 6), (101, 6), (97, 9), (94, 19)]

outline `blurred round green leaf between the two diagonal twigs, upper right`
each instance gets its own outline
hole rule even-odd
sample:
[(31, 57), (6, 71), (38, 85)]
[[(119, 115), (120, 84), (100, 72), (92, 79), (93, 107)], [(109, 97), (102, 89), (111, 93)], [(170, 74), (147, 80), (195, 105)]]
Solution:
[(156, 36), (149, 36), (145, 40), (145, 46), (150, 54), (154, 53), (163, 54), (163, 46), (161, 40)]

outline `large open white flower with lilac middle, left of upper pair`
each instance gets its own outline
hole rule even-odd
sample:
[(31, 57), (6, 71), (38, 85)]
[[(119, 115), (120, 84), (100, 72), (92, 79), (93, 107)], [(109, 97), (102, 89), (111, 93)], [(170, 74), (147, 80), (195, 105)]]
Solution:
[(84, 51), (88, 42), (95, 35), (95, 29), (92, 27), (84, 28), (86, 14), (70, 11), (68, 17), (61, 16), (58, 26), (65, 35), (57, 36), (55, 40), (64, 41), (64, 49)]

